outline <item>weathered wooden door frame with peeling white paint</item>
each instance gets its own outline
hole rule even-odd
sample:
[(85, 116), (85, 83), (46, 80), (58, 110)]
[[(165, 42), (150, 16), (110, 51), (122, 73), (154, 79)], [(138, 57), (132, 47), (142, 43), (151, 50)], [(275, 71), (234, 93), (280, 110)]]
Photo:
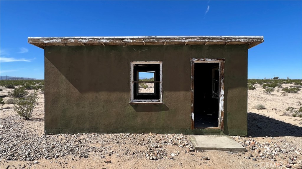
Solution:
[(210, 127), (207, 129), (224, 129), (224, 62), (225, 59), (209, 59), (209, 58), (191, 58), (191, 130), (194, 130), (194, 66), (195, 63), (219, 63), (219, 115), (218, 127)]

